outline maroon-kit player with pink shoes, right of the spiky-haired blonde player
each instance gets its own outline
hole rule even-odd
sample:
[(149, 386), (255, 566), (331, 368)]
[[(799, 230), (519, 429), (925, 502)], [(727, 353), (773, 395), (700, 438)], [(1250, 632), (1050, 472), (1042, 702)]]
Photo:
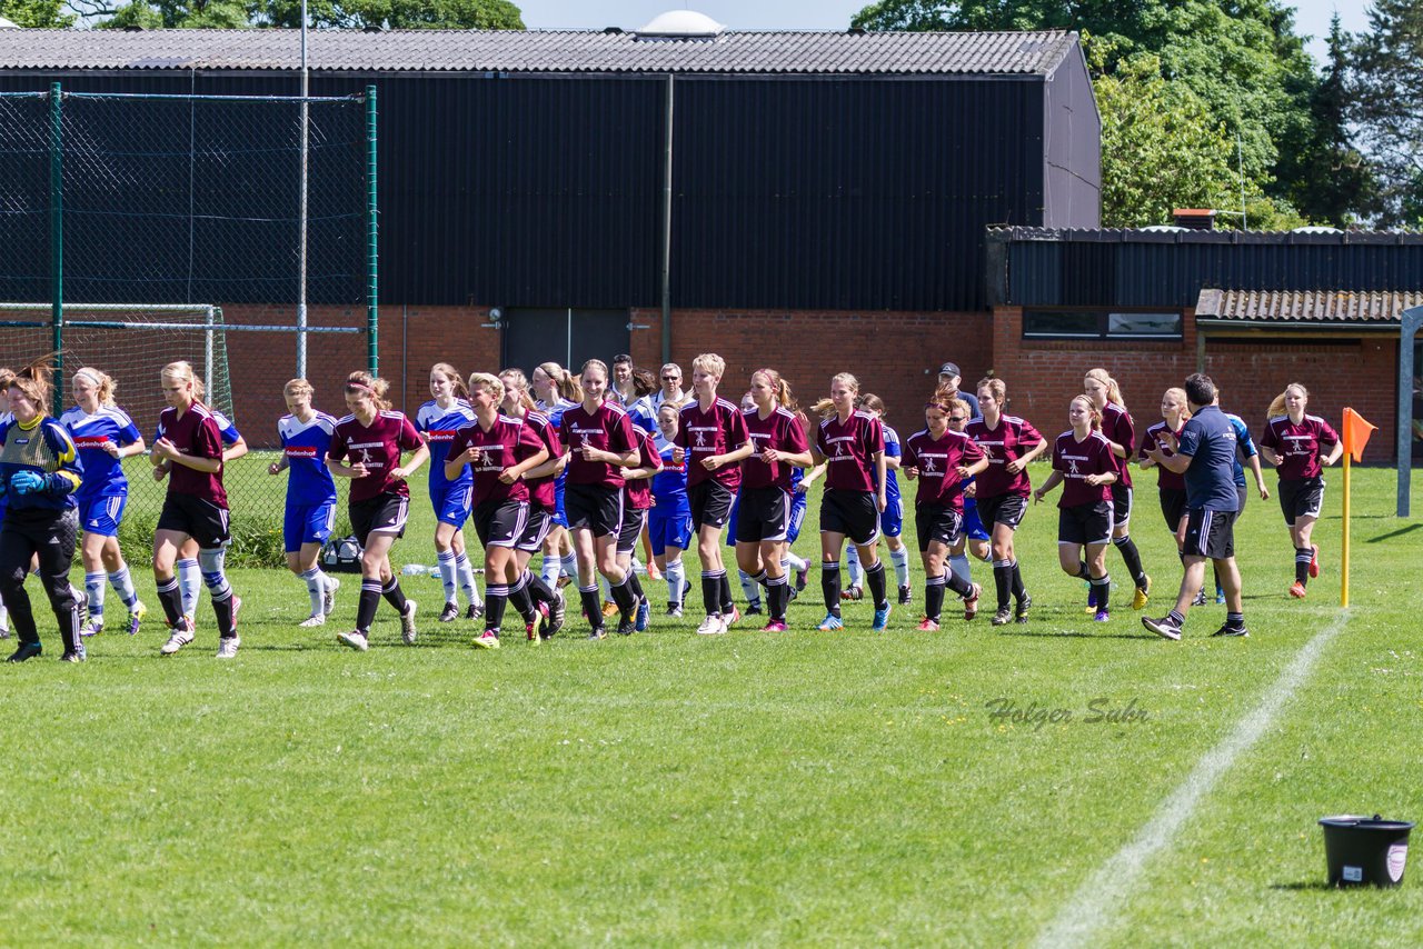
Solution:
[(805, 417), (791, 411), (791, 388), (774, 369), (751, 373), (754, 407), (743, 414), (756, 447), (741, 462), (741, 501), (736, 515), (736, 562), (766, 585), (768, 622), (761, 632), (785, 630), (791, 585), (785, 576), (785, 536), (791, 522), (791, 470), (813, 464)]

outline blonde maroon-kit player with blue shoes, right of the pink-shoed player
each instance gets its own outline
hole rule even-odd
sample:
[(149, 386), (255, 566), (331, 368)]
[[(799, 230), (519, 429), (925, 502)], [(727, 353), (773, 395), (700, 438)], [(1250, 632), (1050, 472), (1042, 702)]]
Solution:
[[(830, 407), (834, 414), (820, 423), (811, 455), (825, 465), (825, 492), (820, 502), (820, 589), (825, 598), (825, 619), (817, 629), (844, 629), (840, 616), (840, 552), (848, 538), (859, 548), (865, 583), (875, 603), (872, 629), (889, 626), (889, 600), (885, 598), (885, 565), (879, 562), (879, 515), (885, 499), (885, 433), (871, 413), (855, 408), (859, 381), (850, 373), (830, 380)], [(821, 411), (817, 404), (815, 411)], [(810, 474), (805, 475), (811, 478)]]

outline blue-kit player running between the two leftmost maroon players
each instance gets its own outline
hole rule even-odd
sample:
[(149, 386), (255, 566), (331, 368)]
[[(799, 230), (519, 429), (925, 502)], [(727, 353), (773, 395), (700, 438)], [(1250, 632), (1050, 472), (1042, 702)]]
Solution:
[(312, 600), (310, 615), (299, 623), (303, 629), (326, 623), (336, 609), (336, 590), (342, 585), (316, 562), (336, 524), (336, 482), (326, 468), (336, 418), (312, 408), (313, 394), (316, 390), (305, 378), (293, 378), (282, 387), (287, 411), (276, 424), (282, 458), (268, 465), (270, 475), (292, 472), (286, 479), (282, 545), (287, 569), (306, 583)]

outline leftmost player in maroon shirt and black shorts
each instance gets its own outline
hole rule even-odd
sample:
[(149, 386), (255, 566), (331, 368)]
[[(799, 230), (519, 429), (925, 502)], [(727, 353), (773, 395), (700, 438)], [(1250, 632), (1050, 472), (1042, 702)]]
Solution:
[(242, 600), (232, 593), (222, 569), (222, 549), (232, 538), (228, 492), (222, 487), (222, 433), (208, 407), (198, 401), (192, 366), (169, 363), (161, 380), (168, 408), (158, 417), (158, 438), (149, 455), (155, 474), (169, 471), (168, 497), (154, 532), (154, 580), (172, 630), (161, 652), (172, 656), (192, 642), (192, 622), (184, 616), (174, 566), (178, 551), (194, 539), (202, 579), (212, 593), (212, 612), (218, 616), (218, 657), (232, 659), (242, 643), (238, 639)]

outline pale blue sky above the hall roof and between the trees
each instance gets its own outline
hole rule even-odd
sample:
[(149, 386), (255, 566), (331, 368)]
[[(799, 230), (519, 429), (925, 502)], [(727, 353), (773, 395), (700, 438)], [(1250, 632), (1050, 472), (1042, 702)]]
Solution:
[[(731, 30), (844, 30), (850, 18), (869, 0), (514, 0), (524, 11), (524, 24), (531, 30), (601, 30), (622, 27), (635, 30), (659, 13), (692, 9), (704, 13)], [(1338, 9), (1343, 28), (1363, 30), (1368, 26), (1365, 4), (1359, 0), (1298, 0), (1291, 3), (1295, 33), (1312, 36), (1309, 51), (1316, 61), (1323, 60), (1323, 37), (1329, 34), (1329, 17)]]

